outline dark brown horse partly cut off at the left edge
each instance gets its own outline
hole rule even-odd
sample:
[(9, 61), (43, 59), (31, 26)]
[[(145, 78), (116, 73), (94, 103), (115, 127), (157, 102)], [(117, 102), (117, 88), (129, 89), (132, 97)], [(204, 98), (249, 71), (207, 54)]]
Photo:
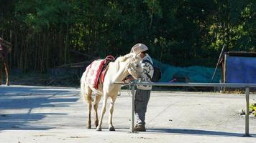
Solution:
[(8, 54), (12, 51), (12, 44), (0, 37), (0, 86), (1, 86), (1, 72), (2, 66), (4, 65), (6, 73), (6, 85), (9, 86), (9, 65), (8, 65)]

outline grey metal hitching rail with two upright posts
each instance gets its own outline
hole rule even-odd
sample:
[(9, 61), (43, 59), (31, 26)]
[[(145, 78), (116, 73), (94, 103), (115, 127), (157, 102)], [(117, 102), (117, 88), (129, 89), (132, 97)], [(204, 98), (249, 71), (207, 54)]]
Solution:
[[(114, 84), (124, 84), (124, 82), (114, 82)], [(168, 82), (131, 82), (132, 86), (132, 101), (131, 101), (131, 132), (134, 132), (134, 98), (135, 86), (137, 85), (150, 85), (157, 87), (232, 87), (232, 88), (245, 88), (246, 112), (245, 112), (245, 134), (249, 137), (249, 94), (250, 88), (256, 87), (256, 84), (222, 84), (222, 83), (168, 83)]]

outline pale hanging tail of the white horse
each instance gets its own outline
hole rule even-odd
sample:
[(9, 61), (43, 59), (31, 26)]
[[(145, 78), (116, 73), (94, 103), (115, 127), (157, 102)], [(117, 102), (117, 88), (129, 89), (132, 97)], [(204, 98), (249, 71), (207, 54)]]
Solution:
[(83, 99), (83, 102), (93, 102), (93, 99), (91, 97), (91, 94), (88, 92), (91, 89), (88, 89), (88, 85), (86, 84), (86, 72), (83, 73), (83, 76), (81, 77), (80, 81), (80, 90), (81, 90), (81, 98)]

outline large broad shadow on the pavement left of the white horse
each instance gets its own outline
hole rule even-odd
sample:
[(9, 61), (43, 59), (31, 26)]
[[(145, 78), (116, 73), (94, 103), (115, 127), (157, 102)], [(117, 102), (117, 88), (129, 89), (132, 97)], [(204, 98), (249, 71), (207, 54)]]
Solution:
[[(49, 108), (69, 107), (68, 103), (76, 102), (78, 99), (76, 92), (66, 89), (2, 86), (0, 87), (0, 130), (55, 128), (45, 124), (38, 125), (37, 122), (48, 116), (62, 117), (67, 113)], [(40, 112), (45, 108), (47, 110)]]

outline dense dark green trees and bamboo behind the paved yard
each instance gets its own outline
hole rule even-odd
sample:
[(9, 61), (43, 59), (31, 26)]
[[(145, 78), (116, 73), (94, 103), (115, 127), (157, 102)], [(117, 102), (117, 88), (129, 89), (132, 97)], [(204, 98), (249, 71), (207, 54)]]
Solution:
[(223, 44), (255, 51), (255, 19), (255, 0), (1, 0), (0, 36), (13, 44), (11, 68), (24, 71), (127, 54), (138, 42), (165, 64), (213, 67)]

